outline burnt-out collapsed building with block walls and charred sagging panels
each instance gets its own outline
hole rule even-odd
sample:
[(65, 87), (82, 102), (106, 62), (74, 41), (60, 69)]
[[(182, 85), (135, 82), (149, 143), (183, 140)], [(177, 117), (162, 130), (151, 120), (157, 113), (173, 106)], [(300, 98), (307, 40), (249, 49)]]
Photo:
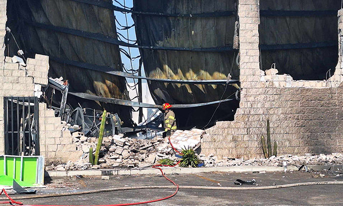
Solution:
[[(267, 118), (279, 154), (342, 151), (339, 0), (0, 3), (1, 153), (74, 160), (83, 152), (61, 120), (97, 136), (106, 109), (111, 135), (161, 130), (157, 119), (137, 127), (131, 107), (165, 102), (178, 128), (213, 126), (202, 136), (205, 155), (262, 156)], [(119, 40), (114, 11), (132, 13), (137, 44)], [(119, 46), (140, 49), (146, 77), (123, 70)], [(147, 79), (156, 105), (130, 101), (125, 77)]]

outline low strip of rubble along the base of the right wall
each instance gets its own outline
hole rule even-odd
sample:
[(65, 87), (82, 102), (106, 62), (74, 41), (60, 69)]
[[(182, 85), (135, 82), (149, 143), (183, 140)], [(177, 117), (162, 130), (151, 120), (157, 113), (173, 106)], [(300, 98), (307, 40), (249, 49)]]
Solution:
[(271, 156), (270, 158), (253, 158), (244, 160), (225, 158), (218, 160), (214, 155), (204, 156), (199, 155), (200, 159), (205, 162), (205, 167), (211, 166), (240, 166), (240, 165), (251, 165), (251, 166), (282, 166), (283, 162), (286, 161), (288, 165), (326, 165), (326, 164), (343, 164), (343, 154), (332, 153), (332, 154), (319, 154), (306, 156), (297, 156), (292, 154), (285, 154), (280, 156)]

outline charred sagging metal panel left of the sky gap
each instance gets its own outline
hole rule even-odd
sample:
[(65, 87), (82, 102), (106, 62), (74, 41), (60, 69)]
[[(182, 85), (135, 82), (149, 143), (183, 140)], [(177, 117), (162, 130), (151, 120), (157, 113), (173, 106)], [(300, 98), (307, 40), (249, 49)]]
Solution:
[[(111, 0), (106, 1), (112, 3)], [(62, 76), (68, 79), (70, 91), (73, 92), (128, 100), (125, 78), (64, 62), (72, 60), (122, 71), (119, 46), (58, 30), (69, 28), (79, 33), (91, 32), (117, 38), (112, 10), (72, 0), (8, 0), (7, 15), (7, 26), (12, 28), (15, 36), (20, 37), (20, 46), (24, 48), (26, 55), (40, 53), (50, 56), (49, 77)], [(58, 29), (51, 29), (51, 26)], [(12, 56), (17, 48), (11, 42), (9, 48), (9, 55)], [(93, 108), (105, 107), (109, 111), (119, 112), (123, 119), (130, 116), (129, 107), (103, 103), (100, 105), (82, 99), (71, 101), (70, 98), (69, 103), (76, 106), (80, 103)]]

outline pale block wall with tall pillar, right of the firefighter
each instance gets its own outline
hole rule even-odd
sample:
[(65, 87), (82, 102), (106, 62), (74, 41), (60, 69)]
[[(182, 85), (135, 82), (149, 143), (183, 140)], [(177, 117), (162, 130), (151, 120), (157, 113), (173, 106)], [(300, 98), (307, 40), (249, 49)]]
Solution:
[[(240, 0), (239, 17), (240, 108), (235, 121), (217, 122), (206, 131), (202, 153), (219, 158), (263, 157), (261, 135), (267, 133), (267, 118), (279, 154), (342, 152), (341, 50), (335, 75), (328, 81), (294, 81), (291, 76), (276, 74), (265, 76), (259, 67), (259, 1)], [(342, 27), (339, 24), (339, 39)], [(342, 44), (341, 39), (339, 42)]]

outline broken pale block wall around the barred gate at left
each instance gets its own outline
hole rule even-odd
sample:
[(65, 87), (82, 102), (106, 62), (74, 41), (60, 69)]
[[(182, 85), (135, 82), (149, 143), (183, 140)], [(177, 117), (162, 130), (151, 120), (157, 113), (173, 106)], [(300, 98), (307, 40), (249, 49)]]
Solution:
[[(0, 0), (0, 45), (2, 47), (6, 34), (7, 0)], [(4, 96), (33, 97), (34, 85), (48, 84), (49, 57), (36, 54), (35, 58), (27, 59), (27, 66), (12, 63), (10, 57), (0, 54), (0, 154), (4, 154)], [(76, 160), (81, 152), (76, 151), (73, 137), (69, 131), (62, 131), (63, 125), (54, 111), (47, 109), (45, 103), (39, 105), (39, 133), (41, 155), (45, 156), (46, 164)]]

